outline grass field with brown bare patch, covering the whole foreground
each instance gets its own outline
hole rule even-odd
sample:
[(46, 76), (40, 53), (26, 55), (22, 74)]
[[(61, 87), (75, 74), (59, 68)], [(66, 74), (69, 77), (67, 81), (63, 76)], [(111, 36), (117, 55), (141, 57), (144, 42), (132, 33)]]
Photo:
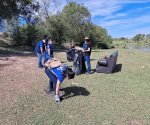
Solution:
[[(119, 49), (121, 71), (65, 80), (58, 105), (43, 91), (36, 55), (0, 50), (0, 125), (150, 125), (150, 53)], [(112, 51), (93, 51), (92, 69)], [(64, 52), (55, 56), (68, 63)]]

